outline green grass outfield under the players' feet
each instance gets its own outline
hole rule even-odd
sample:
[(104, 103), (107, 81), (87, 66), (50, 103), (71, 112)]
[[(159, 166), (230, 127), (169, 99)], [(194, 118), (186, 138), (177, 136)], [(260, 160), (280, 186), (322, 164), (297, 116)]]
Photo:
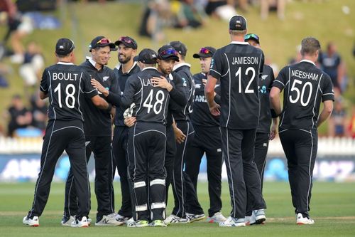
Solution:
[[(205, 221), (177, 224), (168, 228), (126, 228), (126, 226), (70, 228), (60, 226), (64, 184), (53, 184), (48, 204), (40, 227), (29, 228), (22, 224), (22, 218), (31, 207), (34, 183), (0, 184), (0, 236), (355, 236), (355, 189), (354, 183), (316, 182), (312, 193), (311, 214), (314, 226), (297, 226), (290, 201), (288, 183), (267, 182), (264, 186), (264, 198), (268, 204), (267, 223), (262, 226), (246, 228), (220, 228), (217, 224)], [(230, 211), (229, 194), (226, 183), (223, 184), (222, 212), (228, 216)], [(119, 185), (115, 186), (119, 193)], [(93, 190), (92, 190), (93, 191)], [(170, 195), (171, 196), (171, 195)], [(169, 196), (169, 197), (170, 197)], [(209, 201), (207, 184), (199, 184), (200, 202), (207, 212)], [(116, 194), (116, 206), (119, 204)], [(170, 214), (173, 198), (168, 204)], [(96, 209), (96, 201), (92, 210)], [(117, 208), (116, 208), (117, 209)], [(90, 214), (92, 218), (95, 211)]]

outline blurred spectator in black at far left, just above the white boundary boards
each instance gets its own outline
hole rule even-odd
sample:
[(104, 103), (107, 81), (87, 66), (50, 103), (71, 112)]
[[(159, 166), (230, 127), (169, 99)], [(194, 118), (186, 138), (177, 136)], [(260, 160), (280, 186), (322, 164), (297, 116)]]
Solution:
[(31, 111), (23, 105), (21, 95), (13, 95), (11, 106), (5, 117), (9, 119), (7, 127), (9, 137), (13, 137), (16, 129), (28, 127), (32, 123)]

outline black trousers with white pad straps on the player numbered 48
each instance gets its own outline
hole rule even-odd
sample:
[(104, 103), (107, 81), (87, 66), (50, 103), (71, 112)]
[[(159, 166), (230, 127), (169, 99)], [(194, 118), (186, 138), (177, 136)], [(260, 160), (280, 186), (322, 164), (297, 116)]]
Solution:
[(129, 128), (127, 147), (135, 220), (154, 221), (165, 218), (165, 146), (165, 125), (138, 121)]

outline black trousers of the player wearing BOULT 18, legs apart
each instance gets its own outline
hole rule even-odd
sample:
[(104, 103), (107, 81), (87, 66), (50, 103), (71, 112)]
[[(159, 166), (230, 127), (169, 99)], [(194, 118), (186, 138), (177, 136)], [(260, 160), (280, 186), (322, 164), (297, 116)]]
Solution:
[(48, 201), (55, 164), (64, 151), (69, 156), (74, 186), (77, 190), (77, 218), (89, 215), (89, 181), (82, 121), (50, 120), (45, 130), (33, 206), (28, 216), (42, 214)]

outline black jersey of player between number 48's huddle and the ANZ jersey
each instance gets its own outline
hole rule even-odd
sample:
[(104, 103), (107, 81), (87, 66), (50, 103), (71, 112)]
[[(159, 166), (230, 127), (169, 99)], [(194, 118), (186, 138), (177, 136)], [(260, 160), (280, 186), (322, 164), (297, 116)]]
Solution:
[(194, 102), (194, 83), (190, 72), (190, 64), (180, 63), (174, 66), (173, 81), (175, 86), (179, 88), (185, 95), (187, 102), (185, 105), (179, 105), (174, 100), (170, 103), (170, 110), (175, 121), (190, 121), (192, 113), (192, 104)]

